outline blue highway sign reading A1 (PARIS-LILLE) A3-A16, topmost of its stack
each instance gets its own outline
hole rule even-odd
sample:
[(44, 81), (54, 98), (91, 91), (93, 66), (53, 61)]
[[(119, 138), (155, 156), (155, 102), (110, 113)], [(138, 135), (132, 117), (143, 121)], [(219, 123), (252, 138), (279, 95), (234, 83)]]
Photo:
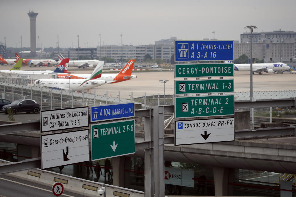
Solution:
[(175, 62), (233, 60), (233, 40), (175, 40)]

